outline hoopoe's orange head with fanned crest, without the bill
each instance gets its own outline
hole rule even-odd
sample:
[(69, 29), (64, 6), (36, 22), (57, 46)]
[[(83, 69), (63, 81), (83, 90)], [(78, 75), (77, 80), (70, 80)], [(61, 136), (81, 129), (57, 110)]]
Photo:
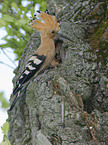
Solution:
[(54, 39), (59, 31), (60, 25), (57, 23), (56, 17), (45, 12), (41, 12), (38, 17), (41, 18), (42, 21), (37, 19), (32, 20), (32, 23), (30, 24), (31, 27), (39, 31), (42, 37), (49, 37)]

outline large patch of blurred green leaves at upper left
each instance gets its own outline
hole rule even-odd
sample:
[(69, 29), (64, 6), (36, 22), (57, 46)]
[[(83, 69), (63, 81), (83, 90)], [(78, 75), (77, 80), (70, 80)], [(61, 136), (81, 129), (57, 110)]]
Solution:
[[(10, 47), (14, 49), (19, 59), (27, 45), (31, 34), (33, 33), (32, 28), (28, 26), (29, 18), (27, 14), (35, 13), (35, 4), (40, 4), (40, 10), (46, 9), (46, 0), (32, 0), (28, 1), (28, 5), (24, 7), (22, 5), (23, 0), (3, 0), (0, 3), (0, 27), (5, 27), (7, 35), (2, 39), (6, 41), (6, 44), (0, 45), (1, 48)], [(25, 34), (23, 34), (23, 32)]]

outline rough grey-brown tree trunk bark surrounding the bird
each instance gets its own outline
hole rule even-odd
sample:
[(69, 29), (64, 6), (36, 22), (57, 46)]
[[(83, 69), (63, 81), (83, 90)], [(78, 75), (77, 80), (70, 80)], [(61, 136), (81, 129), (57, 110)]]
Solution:
[[(60, 32), (72, 41), (56, 38), (60, 66), (46, 70), (22, 89), (15, 108), (8, 112), (10, 142), (105, 145), (108, 143), (108, 3), (100, 0), (47, 3), (47, 8), (56, 12)], [(40, 35), (34, 32), (15, 70), (14, 85), (39, 45)], [(11, 102), (13, 99), (12, 96)]]

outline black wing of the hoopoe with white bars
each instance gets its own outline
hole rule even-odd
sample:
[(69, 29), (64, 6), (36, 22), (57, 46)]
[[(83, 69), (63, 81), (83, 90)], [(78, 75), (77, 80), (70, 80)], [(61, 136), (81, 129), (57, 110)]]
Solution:
[(32, 55), (25, 69), (23, 70), (23, 72), (21, 73), (21, 75), (19, 76), (17, 80), (16, 87), (13, 90), (13, 95), (15, 95), (22, 88), (22, 85), (24, 83), (30, 80), (36, 74), (36, 72), (39, 71), (45, 59), (46, 59), (46, 56), (44, 55), (38, 55), (38, 54)]

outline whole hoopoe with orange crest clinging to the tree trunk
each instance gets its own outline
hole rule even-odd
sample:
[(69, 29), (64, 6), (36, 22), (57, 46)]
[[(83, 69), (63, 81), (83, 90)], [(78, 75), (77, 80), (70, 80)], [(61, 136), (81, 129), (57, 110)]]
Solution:
[[(59, 34), (59, 23), (57, 23), (56, 17), (53, 15), (49, 15), (48, 10), (46, 12), (38, 11), (39, 18), (41, 18), (44, 22), (41, 22), (37, 19), (33, 19), (31, 22), (31, 27), (40, 32), (41, 35), (41, 45), (36, 50), (36, 52), (32, 55), (32, 57), (28, 60), (25, 69), (20, 74), (16, 87), (13, 90), (13, 95), (17, 94), (10, 110), (13, 109), (15, 103), (19, 97), (19, 91), (23, 87), (23, 84), (29, 81), (32, 77), (38, 75), (40, 72), (45, 70), (52, 63), (54, 66), (54, 57), (55, 57), (55, 45), (54, 38), (56, 35), (64, 37), (62, 34)], [(70, 39), (69, 39), (70, 40)], [(56, 64), (55, 64), (56, 65)]]

